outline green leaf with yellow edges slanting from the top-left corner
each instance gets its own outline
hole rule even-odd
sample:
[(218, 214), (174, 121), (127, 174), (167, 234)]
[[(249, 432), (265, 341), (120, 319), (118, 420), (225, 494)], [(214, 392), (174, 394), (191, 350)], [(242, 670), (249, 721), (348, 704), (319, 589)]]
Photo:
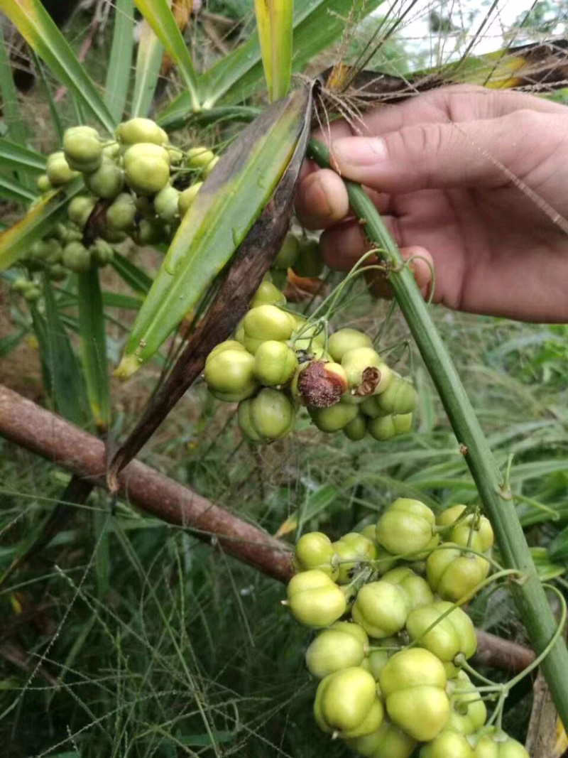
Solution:
[(112, 133), (116, 121), (42, 3), (39, 0), (0, 0), (0, 11), (4, 11), (55, 77)]

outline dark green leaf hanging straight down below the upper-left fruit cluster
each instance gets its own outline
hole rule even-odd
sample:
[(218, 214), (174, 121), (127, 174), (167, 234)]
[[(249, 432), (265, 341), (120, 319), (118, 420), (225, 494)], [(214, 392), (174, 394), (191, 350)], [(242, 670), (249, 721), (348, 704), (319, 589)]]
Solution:
[(79, 323), (81, 359), (92, 417), (99, 431), (108, 429), (107, 337), (98, 268), (79, 274)]

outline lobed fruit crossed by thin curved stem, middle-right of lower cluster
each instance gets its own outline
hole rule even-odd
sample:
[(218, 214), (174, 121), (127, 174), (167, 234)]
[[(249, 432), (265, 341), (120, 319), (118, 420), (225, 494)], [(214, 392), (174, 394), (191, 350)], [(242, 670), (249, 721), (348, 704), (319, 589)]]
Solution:
[(420, 647), (442, 662), (454, 662), (460, 653), (471, 658), (477, 649), (476, 630), (470, 617), (461, 608), (452, 610), (451, 603), (430, 603), (411, 611), (406, 628), (411, 641), (418, 641)]

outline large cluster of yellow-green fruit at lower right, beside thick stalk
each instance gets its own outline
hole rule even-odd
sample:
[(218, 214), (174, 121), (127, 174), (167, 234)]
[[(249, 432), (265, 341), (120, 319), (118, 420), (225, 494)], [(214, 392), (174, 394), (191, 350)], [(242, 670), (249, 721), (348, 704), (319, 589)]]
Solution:
[(528, 758), (485, 725), (482, 694), (462, 668), (477, 640), (456, 603), (488, 575), (482, 554), (492, 543), (488, 520), (466, 506), (436, 520), (403, 498), (360, 533), (298, 540), (285, 603), (322, 630), (306, 663), (320, 679), (314, 716), (323, 731), (368, 758), (409, 758), (418, 743), (420, 758)]

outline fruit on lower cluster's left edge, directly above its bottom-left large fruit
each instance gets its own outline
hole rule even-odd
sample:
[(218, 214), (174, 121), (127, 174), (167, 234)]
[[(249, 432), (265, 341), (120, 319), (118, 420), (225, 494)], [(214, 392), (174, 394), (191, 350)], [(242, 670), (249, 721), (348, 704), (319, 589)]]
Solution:
[[(348, 634), (343, 627), (360, 629), (364, 637)], [(307, 670), (318, 679), (351, 666), (360, 666), (364, 661), (365, 647), (369, 638), (364, 629), (357, 624), (339, 622), (331, 628), (321, 631), (306, 650)]]

